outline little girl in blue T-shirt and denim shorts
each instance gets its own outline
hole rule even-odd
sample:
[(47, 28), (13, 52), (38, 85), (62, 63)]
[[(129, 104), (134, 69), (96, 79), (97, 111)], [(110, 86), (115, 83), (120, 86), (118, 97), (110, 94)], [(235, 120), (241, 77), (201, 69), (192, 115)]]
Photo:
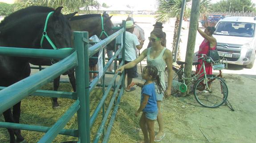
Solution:
[(144, 84), (133, 82), (129, 86), (137, 85), (142, 88), (140, 107), (135, 111), (136, 117), (140, 112), (143, 112), (139, 120), (139, 126), (144, 135), (144, 141), (141, 141), (141, 143), (154, 143), (154, 120), (157, 119), (158, 114), (155, 84), (158, 86), (158, 93), (163, 92), (163, 87), (160, 84), (158, 70), (155, 66), (145, 66), (142, 72), (142, 79), (146, 80)]

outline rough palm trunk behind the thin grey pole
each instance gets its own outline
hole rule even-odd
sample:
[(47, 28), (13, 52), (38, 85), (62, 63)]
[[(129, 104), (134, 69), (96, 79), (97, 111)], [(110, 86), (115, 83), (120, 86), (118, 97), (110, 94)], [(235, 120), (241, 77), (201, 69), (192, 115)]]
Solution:
[[(174, 27), (174, 35), (173, 35), (173, 43), (172, 43), (172, 54), (175, 54), (175, 45), (177, 42), (178, 30), (179, 30), (179, 17), (176, 17), (175, 27)], [(181, 40), (179, 40), (179, 43), (180, 43), (180, 41)], [(180, 60), (180, 59), (181, 59), (180, 46), (178, 46), (177, 60)]]

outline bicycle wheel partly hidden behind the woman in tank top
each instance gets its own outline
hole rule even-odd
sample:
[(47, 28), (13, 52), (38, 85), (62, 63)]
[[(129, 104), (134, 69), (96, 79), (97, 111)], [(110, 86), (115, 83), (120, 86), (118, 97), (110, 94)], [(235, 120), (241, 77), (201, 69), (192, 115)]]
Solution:
[[(182, 76), (181, 76), (181, 74), (180, 74), (181, 72), (179, 72), (179, 73), (177, 74), (178, 71), (179, 71), (178, 69), (176, 69), (175, 67), (172, 67), (172, 78), (173, 78), (173, 80), (175, 80), (175, 81), (181, 82), (181, 81), (182, 81)], [(165, 74), (165, 82), (166, 82), (166, 85), (168, 85), (168, 71), (167, 71), (167, 67), (166, 67), (165, 70), (164, 70), (164, 74)], [(177, 89), (171, 88), (171, 94), (178, 93), (178, 91), (179, 91), (179, 90), (177, 90)]]

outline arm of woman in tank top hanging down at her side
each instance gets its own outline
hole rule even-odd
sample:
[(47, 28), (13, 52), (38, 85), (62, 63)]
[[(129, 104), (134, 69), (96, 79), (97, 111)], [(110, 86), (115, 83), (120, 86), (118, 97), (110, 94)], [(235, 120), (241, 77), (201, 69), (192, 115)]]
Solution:
[(171, 96), (171, 85), (172, 85), (172, 53), (170, 50), (166, 50), (165, 51), (165, 62), (167, 64), (167, 74), (168, 74), (168, 86), (166, 89), (167, 92), (167, 96), (170, 97)]

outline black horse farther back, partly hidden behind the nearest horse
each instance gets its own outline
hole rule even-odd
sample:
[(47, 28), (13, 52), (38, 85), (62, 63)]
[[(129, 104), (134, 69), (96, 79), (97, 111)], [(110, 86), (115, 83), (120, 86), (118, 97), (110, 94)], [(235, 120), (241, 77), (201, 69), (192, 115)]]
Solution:
[[(73, 15), (73, 14), (69, 14)], [(72, 31), (88, 31), (89, 37), (93, 35), (97, 35), (101, 39), (105, 39), (108, 35), (111, 35), (114, 33), (114, 31), (111, 29), (114, 25), (111, 21), (111, 17), (106, 12), (102, 14), (102, 18), (100, 14), (89, 14), (89, 15), (78, 15), (78, 16), (68, 16), (71, 17), (70, 19), (70, 25)], [(103, 20), (103, 21), (102, 21)], [(102, 29), (102, 23), (103, 23), (103, 29)], [(105, 31), (106, 34), (102, 33), (102, 31)], [(114, 41), (109, 44), (109, 46), (114, 46)], [(31, 60), (30, 63), (33, 65), (41, 65), (41, 66), (50, 66), (51, 62), (48, 60)], [(70, 71), (68, 73), (69, 81), (73, 87), (73, 91), (76, 91), (75, 86), (75, 74), (74, 71)], [(55, 91), (57, 91), (58, 87), (60, 85), (60, 77), (57, 77), (53, 81), (53, 88)], [(57, 102), (57, 98), (53, 98), (53, 108), (59, 107), (59, 104)]]

